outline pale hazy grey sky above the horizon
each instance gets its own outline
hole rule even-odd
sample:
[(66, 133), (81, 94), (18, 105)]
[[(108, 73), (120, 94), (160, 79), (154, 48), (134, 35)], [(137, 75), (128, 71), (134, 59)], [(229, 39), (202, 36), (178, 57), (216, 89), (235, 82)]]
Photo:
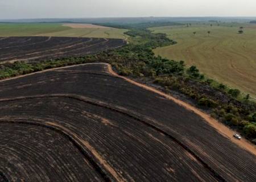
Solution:
[(256, 16), (256, 0), (0, 0), (0, 19)]

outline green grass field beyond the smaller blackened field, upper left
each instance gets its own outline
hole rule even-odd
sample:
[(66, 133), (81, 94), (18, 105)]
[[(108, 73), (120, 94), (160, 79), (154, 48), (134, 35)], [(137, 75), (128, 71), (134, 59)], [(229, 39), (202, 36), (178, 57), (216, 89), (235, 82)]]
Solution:
[(126, 39), (127, 30), (117, 28), (71, 28), (61, 23), (0, 23), (1, 36), (74, 36)]

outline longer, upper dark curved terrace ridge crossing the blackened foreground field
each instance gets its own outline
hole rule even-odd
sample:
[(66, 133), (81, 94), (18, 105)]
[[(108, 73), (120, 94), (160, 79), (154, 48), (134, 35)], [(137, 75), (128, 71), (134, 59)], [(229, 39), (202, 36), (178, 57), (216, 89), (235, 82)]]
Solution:
[[(171, 134), (168, 134), (166, 131), (163, 131), (157, 126), (152, 125), (151, 123), (155, 123), (155, 121), (152, 121), (150, 118), (145, 117), (144, 115), (135, 113), (134, 111), (127, 110), (123, 107), (119, 106), (113, 106), (110, 104), (106, 104), (105, 102), (94, 100), (92, 98), (79, 96), (76, 94), (50, 94), (50, 95), (38, 95), (38, 96), (28, 96), (28, 97), (16, 97), (16, 98), (4, 98), (0, 99), (0, 102), (5, 101), (17, 101), (17, 100), (27, 100), (27, 99), (34, 99), (34, 98), (51, 98), (51, 97), (64, 97), (64, 98), (72, 98), (75, 100), (79, 100), (82, 102), (86, 102), (88, 104), (96, 105), (99, 107), (104, 107), (105, 109), (113, 110), (115, 112), (121, 113), (123, 115), (126, 115), (127, 117), (130, 117), (136, 121), (139, 121), (143, 123), (147, 127), (151, 127), (155, 131), (158, 131), (160, 134), (166, 135), (166, 137), (172, 139), (175, 143), (179, 144), (184, 150), (189, 152), (190, 155), (192, 155), (194, 158), (196, 158), (212, 175), (216, 178), (217, 181), (226, 181), (221, 175), (219, 175), (213, 168), (211, 168), (207, 163), (204, 162), (203, 159), (200, 158), (199, 155), (197, 155), (195, 152), (193, 152), (189, 147), (187, 147), (184, 143), (182, 143), (179, 139), (175, 138)], [(143, 119), (141, 119), (143, 118)]]

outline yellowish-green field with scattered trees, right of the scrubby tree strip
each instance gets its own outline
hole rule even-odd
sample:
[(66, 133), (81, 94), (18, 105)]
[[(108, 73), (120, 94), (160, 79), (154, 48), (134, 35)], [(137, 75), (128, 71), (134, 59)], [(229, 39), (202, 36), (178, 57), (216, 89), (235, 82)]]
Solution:
[[(241, 26), (244, 33), (238, 34)], [(150, 30), (166, 33), (177, 42), (174, 46), (156, 48), (156, 55), (196, 65), (207, 76), (256, 98), (255, 25), (229, 23), (210, 27), (209, 24), (192, 24)]]

